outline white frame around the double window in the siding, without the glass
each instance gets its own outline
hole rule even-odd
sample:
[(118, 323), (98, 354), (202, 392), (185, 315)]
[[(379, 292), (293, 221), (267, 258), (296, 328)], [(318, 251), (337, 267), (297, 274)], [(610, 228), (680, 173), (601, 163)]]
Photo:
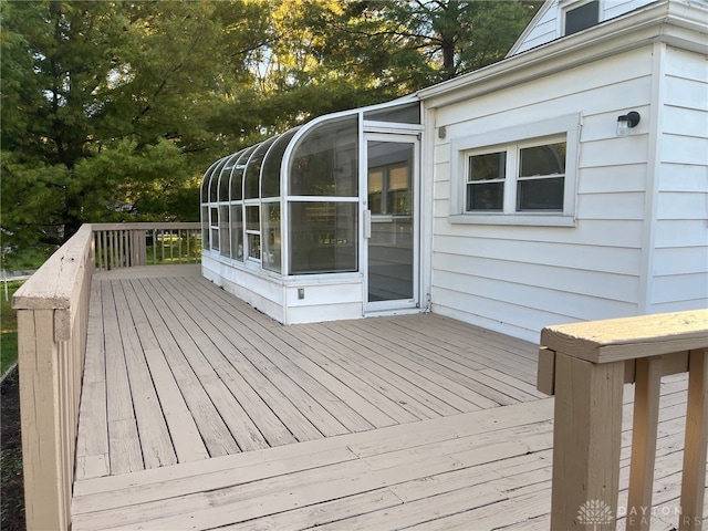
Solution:
[[(450, 223), (574, 227), (581, 115), (506, 127), (450, 142)], [(518, 156), (523, 147), (566, 143), (562, 211), (517, 211)], [(507, 152), (507, 179), (502, 211), (466, 211), (469, 157)]]

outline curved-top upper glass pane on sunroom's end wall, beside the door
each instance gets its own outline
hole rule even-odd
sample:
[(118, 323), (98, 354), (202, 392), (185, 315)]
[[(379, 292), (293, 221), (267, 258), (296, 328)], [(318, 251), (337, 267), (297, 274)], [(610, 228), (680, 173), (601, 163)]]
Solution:
[(291, 196), (358, 195), (358, 119), (325, 122), (300, 139), (290, 160)]

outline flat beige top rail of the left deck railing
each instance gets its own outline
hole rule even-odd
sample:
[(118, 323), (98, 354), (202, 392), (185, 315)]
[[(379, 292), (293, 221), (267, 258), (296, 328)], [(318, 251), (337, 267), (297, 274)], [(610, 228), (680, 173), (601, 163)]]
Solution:
[(69, 310), (92, 243), (90, 225), (83, 225), (20, 287), (12, 298), (15, 310)]

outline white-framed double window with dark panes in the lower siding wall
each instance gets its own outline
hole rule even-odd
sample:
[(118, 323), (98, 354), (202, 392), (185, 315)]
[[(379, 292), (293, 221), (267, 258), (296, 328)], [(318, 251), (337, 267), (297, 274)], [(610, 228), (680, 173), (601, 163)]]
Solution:
[(454, 139), (451, 222), (573, 225), (579, 122), (574, 115)]

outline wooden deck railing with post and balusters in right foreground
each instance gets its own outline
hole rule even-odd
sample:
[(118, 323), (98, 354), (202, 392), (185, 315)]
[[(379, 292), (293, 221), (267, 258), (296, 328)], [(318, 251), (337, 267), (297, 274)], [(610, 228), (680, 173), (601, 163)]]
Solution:
[(662, 376), (688, 372), (679, 530), (702, 529), (708, 310), (546, 327), (538, 388), (555, 395), (551, 530), (615, 529), (622, 406), (635, 383), (627, 530), (648, 530)]

